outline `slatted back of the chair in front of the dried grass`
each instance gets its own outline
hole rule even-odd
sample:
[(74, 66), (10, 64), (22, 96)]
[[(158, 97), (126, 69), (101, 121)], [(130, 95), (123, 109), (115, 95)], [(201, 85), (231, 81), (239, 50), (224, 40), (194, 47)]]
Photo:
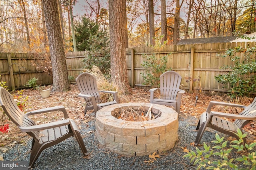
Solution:
[[(92, 76), (87, 72), (79, 74), (76, 78), (76, 84), (82, 94), (94, 96), (97, 103), (101, 103), (100, 94), (97, 88), (96, 77)], [(86, 104), (92, 105), (92, 100), (84, 98)]]

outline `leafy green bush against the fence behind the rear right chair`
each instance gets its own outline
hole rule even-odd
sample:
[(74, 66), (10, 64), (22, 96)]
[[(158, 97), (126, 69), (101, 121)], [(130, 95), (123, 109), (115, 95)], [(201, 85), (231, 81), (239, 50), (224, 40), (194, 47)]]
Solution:
[(172, 70), (167, 68), (166, 63), (168, 62), (168, 56), (171, 53), (157, 58), (155, 54), (146, 55), (143, 54), (142, 67), (145, 68), (145, 72), (142, 72), (143, 85), (157, 86), (160, 85), (160, 75), (166, 72), (166, 70)]

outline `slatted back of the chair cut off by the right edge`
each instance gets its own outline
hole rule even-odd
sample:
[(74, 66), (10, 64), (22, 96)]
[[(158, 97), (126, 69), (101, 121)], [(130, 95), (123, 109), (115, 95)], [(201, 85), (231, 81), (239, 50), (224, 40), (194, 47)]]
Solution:
[[(240, 115), (246, 115), (246, 116), (256, 116), (256, 98), (254, 98), (253, 102), (247, 106), (244, 111), (239, 113)], [(247, 123), (249, 123), (251, 120), (242, 120), (242, 119), (236, 119), (234, 123), (237, 125), (239, 129), (244, 127)]]

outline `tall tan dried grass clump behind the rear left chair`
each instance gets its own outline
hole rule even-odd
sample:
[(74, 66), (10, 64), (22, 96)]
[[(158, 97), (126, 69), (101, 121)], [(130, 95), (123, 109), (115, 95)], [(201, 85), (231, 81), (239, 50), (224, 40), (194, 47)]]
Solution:
[[(109, 90), (118, 92), (118, 99), (120, 103), (128, 102), (128, 96), (126, 93), (118, 87), (114, 79), (111, 78), (111, 70), (107, 70), (108, 74), (103, 74), (97, 66), (92, 66), (91, 70), (86, 70), (90, 74), (94, 75), (97, 79), (98, 90)], [(102, 102), (109, 102), (113, 100), (112, 94), (102, 93), (100, 94)]]

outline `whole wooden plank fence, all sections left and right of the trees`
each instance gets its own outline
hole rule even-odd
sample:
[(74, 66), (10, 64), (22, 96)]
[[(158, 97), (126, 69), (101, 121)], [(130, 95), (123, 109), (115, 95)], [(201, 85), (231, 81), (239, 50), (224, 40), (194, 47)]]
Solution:
[[(247, 43), (248, 45), (248, 43)], [(254, 42), (250, 43), (254, 47)], [(138, 47), (126, 50), (126, 61), (128, 67), (128, 79), (132, 87), (144, 86), (141, 73), (145, 72), (142, 67), (142, 55), (153, 55), (161, 57), (171, 53), (168, 56), (167, 67), (178, 72), (182, 76), (182, 88), (190, 92), (193, 90), (205, 90), (215, 92), (226, 92), (228, 87), (223, 88), (214, 76), (218, 74), (226, 74), (230, 70), (222, 70), (224, 65), (234, 65), (228, 58), (222, 58), (217, 54), (224, 53), (228, 48), (236, 46), (245, 47), (245, 43), (206, 43), (194, 45), (170, 45), (161, 49), (150, 47)], [(85, 55), (84, 51), (69, 52), (66, 55), (68, 76), (71, 82), (75, 82), (75, 78), (84, 71)], [(8, 86), (14, 80), (15, 87), (24, 86), (29, 78), (39, 78), (42, 84), (52, 83), (52, 77), (43, 70), (38, 70), (36, 65), (41, 59), (32, 59), (26, 54), (5, 54), (0, 53), (0, 74), (2, 80), (7, 81)], [(238, 54), (242, 57), (242, 54)], [(9, 57), (8, 57), (9, 56)], [(28, 58), (26, 58), (28, 57)], [(242, 62), (243, 58), (241, 58)], [(17, 64), (14, 64), (17, 63)], [(25, 68), (28, 69), (25, 70)], [(12, 78), (13, 74), (13, 78)], [(198, 81), (194, 82), (193, 80)]]

